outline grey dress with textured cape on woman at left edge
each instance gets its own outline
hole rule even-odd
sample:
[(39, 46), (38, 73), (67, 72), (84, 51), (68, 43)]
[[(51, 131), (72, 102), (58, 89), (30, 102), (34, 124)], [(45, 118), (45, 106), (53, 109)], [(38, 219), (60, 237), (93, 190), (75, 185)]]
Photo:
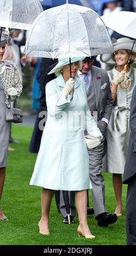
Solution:
[(14, 87), (17, 96), (22, 92), (22, 83), (16, 64), (10, 60), (0, 63), (0, 168), (7, 164), (10, 122), (5, 120), (7, 106), (10, 106), (8, 89)]

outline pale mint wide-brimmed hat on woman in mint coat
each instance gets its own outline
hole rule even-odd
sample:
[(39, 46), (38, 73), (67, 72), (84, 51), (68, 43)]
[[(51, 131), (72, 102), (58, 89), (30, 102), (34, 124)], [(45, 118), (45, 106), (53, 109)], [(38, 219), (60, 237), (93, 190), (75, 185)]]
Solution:
[[(83, 60), (85, 57), (74, 57), (71, 58), (71, 63), (73, 62), (78, 62), (79, 60)], [(54, 66), (54, 68), (48, 73), (48, 75), (56, 72), (59, 68), (61, 68), (61, 66), (65, 66), (70, 64), (70, 58), (59, 58), (58, 59), (58, 64), (56, 66)]]

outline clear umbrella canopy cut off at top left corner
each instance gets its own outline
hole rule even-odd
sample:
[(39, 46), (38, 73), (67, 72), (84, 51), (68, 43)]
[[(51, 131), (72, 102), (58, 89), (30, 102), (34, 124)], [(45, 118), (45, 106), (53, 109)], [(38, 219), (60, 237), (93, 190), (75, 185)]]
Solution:
[(1, 0), (0, 27), (28, 30), (42, 11), (39, 0)]

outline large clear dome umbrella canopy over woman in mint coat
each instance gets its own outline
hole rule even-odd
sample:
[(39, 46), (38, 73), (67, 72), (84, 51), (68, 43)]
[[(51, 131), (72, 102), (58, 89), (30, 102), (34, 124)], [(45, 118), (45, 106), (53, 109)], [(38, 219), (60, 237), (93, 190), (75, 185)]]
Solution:
[(94, 10), (64, 4), (43, 11), (30, 28), (25, 53), (45, 58), (114, 52), (107, 28)]

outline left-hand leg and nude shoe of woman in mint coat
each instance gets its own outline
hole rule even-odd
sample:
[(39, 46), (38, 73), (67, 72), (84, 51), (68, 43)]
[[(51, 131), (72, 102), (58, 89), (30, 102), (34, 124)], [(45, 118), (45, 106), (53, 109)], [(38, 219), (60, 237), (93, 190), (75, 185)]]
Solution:
[(39, 232), (43, 235), (49, 235), (49, 214), (54, 190), (43, 189), (41, 193), (41, 220), (39, 221)]

